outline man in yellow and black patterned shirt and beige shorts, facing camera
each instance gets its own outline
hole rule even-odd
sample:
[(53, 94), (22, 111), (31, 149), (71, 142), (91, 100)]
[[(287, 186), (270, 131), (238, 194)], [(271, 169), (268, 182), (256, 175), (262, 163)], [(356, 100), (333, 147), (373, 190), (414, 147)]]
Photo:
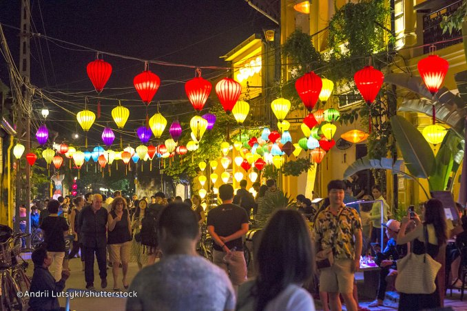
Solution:
[(331, 310), (342, 310), (341, 294), (347, 310), (357, 311), (357, 303), (352, 296), (353, 274), (360, 267), (362, 223), (357, 211), (344, 204), (344, 191), (343, 181), (329, 182), (330, 205), (315, 221), (318, 250), (333, 250), (333, 264), (320, 270), (320, 292), (328, 292)]

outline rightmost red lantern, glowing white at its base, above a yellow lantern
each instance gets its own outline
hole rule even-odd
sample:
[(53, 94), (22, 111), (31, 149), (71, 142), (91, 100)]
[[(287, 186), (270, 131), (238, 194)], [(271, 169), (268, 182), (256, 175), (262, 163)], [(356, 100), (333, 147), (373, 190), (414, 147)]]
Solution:
[(448, 73), (448, 61), (432, 54), (424, 59), (420, 59), (417, 67), (426, 88), (428, 88), (430, 93), (434, 96), (439, 88), (441, 88), (444, 77), (446, 77), (446, 73)]

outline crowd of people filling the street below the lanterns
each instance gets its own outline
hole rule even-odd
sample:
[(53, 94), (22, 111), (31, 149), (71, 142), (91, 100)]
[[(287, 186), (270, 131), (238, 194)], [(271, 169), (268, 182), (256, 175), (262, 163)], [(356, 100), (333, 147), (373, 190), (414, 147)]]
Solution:
[[(170, 200), (163, 192), (149, 200), (125, 199), (120, 192), (107, 199), (86, 194), (74, 199), (72, 208), (65, 205), (67, 199), (48, 200), (47, 210), (38, 217), (45, 245), (32, 257), (31, 288), (63, 290), (70, 276), (65, 262), (81, 254), (87, 290), (95, 290), (95, 257), (101, 288), (107, 288), (110, 265), (112, 290), (120, 291), (123, 285), (138, 292), (127, 299), (127, 310), (315, 310), (308, 291), (314, 276), (324, 310), (342, 310), (343, 301), (346, 310), (356, 311), (363, 308), (354, 274), (362, 252), (365, 255), (371, 245), (381, 268), (377, 297), (370, 305), (377, 308), (397, 276), (396, 261), (407, 254), (407, 245), (413, 245), (415, 254), (426, 252), (435, 258), (448, 229), (440, 201), (427, 201), (422, 217), (415, 213), (402, 222), (388, 220), (381, 189), (374, 186), (373, 197), (367, 197), (356, 181), (331, 181), (320, 208), (304, 195), (297, 197), (295, 207), (278, 208), (281, 190), (272, 179), (253, 184), (256, 196), (246, 189), (246, 181), (240, 182), (236, 194), (231, 185), (222, 185), (222, 204), (207, 211), (198, 195)], [(359, 203), (346, 205), (355, 201)], [(256, 275), (248, 280), (243, 239), (251, 219), (260, 230), (253, 239)], [(196, 251), (203, 225), (213, 239), (212, 263)], [(382, 230), (388, 238), (384, 250), (378, 246)], [(70, 233), (74, 241), (65, 256)], [(141, 270), (132, 281), (127, 279), (129, 262)], [(438, 288), (431, 294), (401, 293), (399, 310), (439, 307), (439, 297)], [(31, 299), (30, 306), (39, 310), (46, 303), (51, 308), (40, 310), (56, 308), (58, 302), (41, 299)]]

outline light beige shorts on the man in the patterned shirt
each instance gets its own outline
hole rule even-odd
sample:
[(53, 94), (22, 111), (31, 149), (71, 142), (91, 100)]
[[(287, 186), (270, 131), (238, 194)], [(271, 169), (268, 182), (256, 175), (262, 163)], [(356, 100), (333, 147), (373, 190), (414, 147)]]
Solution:
[(320, 292), (353, 292), (353, 260), (334, 259), (333, 265), (320, 270)]

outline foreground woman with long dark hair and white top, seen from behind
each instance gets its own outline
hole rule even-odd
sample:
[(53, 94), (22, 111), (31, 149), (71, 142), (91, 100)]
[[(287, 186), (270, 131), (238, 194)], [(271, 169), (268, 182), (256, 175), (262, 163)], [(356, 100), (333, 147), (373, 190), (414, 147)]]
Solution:
[(299, 212), (273, 214), (255, 252), (258, 275), (240, 285), (237, 310), (315, 310), (313, 298), (302, 288), (313, 273), (310, 234)]

